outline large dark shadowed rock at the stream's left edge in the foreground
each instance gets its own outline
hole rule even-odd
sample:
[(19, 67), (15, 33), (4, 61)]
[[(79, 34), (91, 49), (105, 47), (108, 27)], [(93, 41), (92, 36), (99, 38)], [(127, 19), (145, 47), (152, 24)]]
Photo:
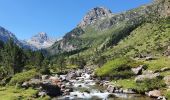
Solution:
[(51, 97), (56, 97), (62, 94), (61, 89), (57, 85), (52, 85), (50, 83), (41, 84), (42, 90)]

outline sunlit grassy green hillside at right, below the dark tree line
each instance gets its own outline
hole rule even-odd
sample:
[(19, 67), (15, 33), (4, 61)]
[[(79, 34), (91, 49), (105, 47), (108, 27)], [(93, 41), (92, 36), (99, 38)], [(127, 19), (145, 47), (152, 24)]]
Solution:
[(135, 56), (138, 54), (162, 55), (170, 45), (170, 19), (144, 23), (133, 30), (118, 45), (104, 55)]

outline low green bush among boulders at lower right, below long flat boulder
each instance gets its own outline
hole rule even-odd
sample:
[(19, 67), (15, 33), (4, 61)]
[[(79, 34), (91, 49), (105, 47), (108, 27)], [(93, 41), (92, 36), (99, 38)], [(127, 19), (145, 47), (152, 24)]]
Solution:
[(155, 78), (155, 79), (145, 79), (142, 82), (137, 82), (135, 86), (135, 90), (138, 93), (145, 93), (147, 91), (153, 90), (153, 89), (159, 89), (162, 87), (165, 87), (165, 83), (162, 79)]

